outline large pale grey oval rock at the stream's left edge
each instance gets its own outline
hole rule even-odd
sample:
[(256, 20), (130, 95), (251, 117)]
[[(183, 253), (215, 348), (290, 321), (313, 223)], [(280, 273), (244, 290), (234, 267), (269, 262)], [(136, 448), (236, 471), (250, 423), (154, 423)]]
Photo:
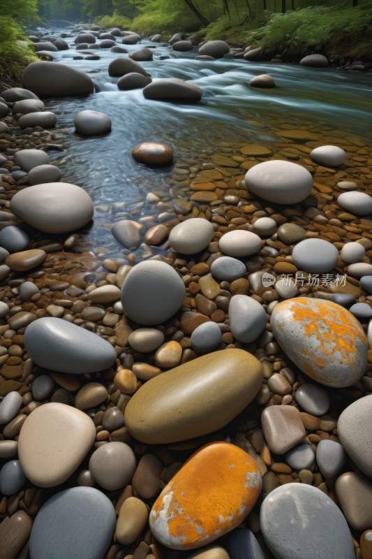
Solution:
[(10, 202), (12, 212), (28, 225), (45, 233), (75, 231), (93, 217), (91, 197), (66, 182), (47, 182), (21, 190)]

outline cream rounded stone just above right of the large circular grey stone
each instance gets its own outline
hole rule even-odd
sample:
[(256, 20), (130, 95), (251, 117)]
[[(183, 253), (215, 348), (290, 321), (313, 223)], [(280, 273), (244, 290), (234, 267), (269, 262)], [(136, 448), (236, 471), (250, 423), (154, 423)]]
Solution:
[(172, 249), (181, 254), (196, 254), (209, 245), (214, 228), (207, 219), (195, 217), (186, 219), (170, 231), (169, 242)]

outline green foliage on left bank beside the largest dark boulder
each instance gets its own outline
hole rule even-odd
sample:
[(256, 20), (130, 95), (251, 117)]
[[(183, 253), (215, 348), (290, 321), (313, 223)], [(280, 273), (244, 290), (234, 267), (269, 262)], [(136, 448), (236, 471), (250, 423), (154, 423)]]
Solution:
[(0, 85), (20, 85), (25, 66), (38, 60), (32, 43), (24, 41), (22, 29), (9, 15), (0, 16)]

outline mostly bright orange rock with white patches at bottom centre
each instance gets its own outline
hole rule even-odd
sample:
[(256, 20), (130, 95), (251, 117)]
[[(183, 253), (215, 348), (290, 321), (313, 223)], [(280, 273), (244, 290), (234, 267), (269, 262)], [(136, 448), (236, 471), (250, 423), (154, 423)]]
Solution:
[(255, 460), (228, 442), (196, 451), (154, 503), (150, 528), (171, 549), (214, 542), (243, 521), (262, 487)]

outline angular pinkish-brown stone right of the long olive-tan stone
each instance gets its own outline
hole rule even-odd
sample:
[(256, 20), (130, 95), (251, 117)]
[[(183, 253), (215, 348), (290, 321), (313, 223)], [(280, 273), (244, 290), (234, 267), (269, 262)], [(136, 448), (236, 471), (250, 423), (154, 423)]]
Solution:
[(306, 437), (299, 411), (292, 406), (266, 407), (261, 423), (267, 445), (276, 454), (285, 454)]

